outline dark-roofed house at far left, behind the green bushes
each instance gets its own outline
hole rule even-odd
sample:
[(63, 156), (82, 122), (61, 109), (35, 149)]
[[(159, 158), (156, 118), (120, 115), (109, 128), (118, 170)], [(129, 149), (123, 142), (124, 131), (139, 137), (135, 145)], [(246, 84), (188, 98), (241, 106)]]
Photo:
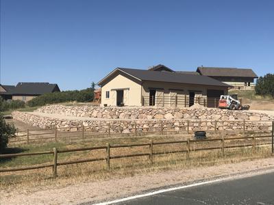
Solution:
[[(7, 85), (1, 85), (0, 89), (5, 90)], [(16, 86), (10, 86), (8, 92), (0, 92), (5, 100), (23, 100), (25, 102), (32, 100), (36, 96), (51, 92), (60, 92), (57, 84), (51, 83), (18, 83)]]

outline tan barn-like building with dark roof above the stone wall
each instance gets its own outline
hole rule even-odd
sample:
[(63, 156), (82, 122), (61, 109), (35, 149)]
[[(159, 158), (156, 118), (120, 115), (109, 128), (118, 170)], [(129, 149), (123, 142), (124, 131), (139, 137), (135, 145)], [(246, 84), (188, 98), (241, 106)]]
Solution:
[(149, 70), (116, 68), (98, 85), (101, 106), (214, 107), (214, 99), (231, 85), (192, 73), (173, 72), (158, 65)]

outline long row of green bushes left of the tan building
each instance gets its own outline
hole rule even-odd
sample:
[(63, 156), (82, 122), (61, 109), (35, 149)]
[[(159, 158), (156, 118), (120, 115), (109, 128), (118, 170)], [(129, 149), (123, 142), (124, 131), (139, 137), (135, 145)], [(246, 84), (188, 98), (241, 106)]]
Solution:
[(53, 92), (48, 94), (43, 94), (42, 96), (38, 96), (29, 100), (27, 105), (29, 107), (42, 106), (47, 104), (54, 104), (60, 102), (69, 102), (69, 101), (77, 101), (77, 102), (91, 102), (93, 100), (94, 90), (92, 88), (87, 88), (85, 90), (69, 90), (63, 92)]

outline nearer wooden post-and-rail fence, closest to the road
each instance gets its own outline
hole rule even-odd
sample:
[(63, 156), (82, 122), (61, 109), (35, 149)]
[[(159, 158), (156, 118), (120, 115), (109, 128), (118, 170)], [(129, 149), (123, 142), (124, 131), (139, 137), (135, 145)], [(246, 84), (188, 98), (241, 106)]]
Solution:
[[(273, 124), (274, 128), (274, 124)], [(40, 155), (40, 154), (53, 154), (53, 163), (47, 164), (47, 165), (35, 165), (30, 167), (14, 167), (14, 168), (8, 168), (8, 169), (0, 169), (0, 172), (16, 172), (16, 171), (24, 171), (29, 169), (41, 169), (46, 167), (52, 167), (53, 168), (53, 177), (57, 176), (57, 168), (60, 165), (71, 165), (71, 164), (77, 164), (77, 163), (87, 163), (87, 162), (95, 162), (95, 161), (105, 161), (107, 169), (110, 169), (110, 160), (113, 159), (121, 159), (121, 158), (129, 158), (129, 157), (136, 157), (136, 156), (148, 156), (148, 160), (150, 163), (153, 163), (153, 156), (157, 156), (159, 154), (171, 154), (171, 153), (186, 153), (187, 159), (190, 158), (190, 152), (197, 152), (197, 151), (203, 151), (203, 150), (221, 150), (223, 156), (225, 155), (225, 149), (229, 148), (246, 148), (246, 147), (252, 147), (253, 150), (255, 150), (256, 146), (260, 146), (258, 143), (256, 143), (256, 139), (262, 139), (262, 138), (270, 138), (272, 137), (271, 143), (264, 143), (264, 144), (272, 144), (272, 153), (273, 153), (273, 130), (271, 135), (265, 135), (265, 136), (252, 136), (252, 137), (228, 137), (228, 138), (219, 138), (219, 139), (187, 139), (187, 140), (180, 140), (180, 141), (150, 141), (149, 143), (133, 143), (133, 144), (120, 144), (120, 145), (111, 145), (110, 143), (107, 143), (106, 146), (97, 146), (97, 147), (90, 147), (90, 148), (75, 148), (75, 149), (69, 149), (69, 150), (58, 150), (57, 148), (53, 148), (52, 151), (46, 151), (46, 152), (32, 152), (32, 153), (20, 153), (20, 154), (0, 154), (0, 159), (7, 159), (12, 157), (19, 157), (19, 156), (34, 156), (34, 155)], [(233, 141), (233, 140), (239, 140), (239, 139), (252, 139), (252, 143), (245, 143), (245, 144), (229, 144), (225, 145), (225, 141)], [(210, 146), (210, 147), (204, 147), (204, 148), (192, 148), (190, 146), (191, 144), (195, 144), (197, 142), (212, 142), (212, 141), (219, 141), (219, 146)], [(161, 152), (155, 152), (153, 148), (155, 146), (159, 145), (166, 145), (164, 146), (167, 148), (167, 145), (175, 144), (175, 143), (183, 143), (184, 146), (182, 150), (169, 150), (169, 151), (161, 151)], [(111, 155), (110, 150), (111, 148), (130, 148), (130, 147), (147, 147), (147, 152), (142, 153), (135, 153), (135, 154), (124, 154), (124, 155)], [(84, 159), (84, 160), (77, 160), (77, 161), (58, 161), (58, 154), (64, 153), (64, 152), (79, 152), (79, 151), (86, 151), (86, 150), (105, 150), (105, 156), (101, 156), (99, 158), (93, 158), (93, 159)]]

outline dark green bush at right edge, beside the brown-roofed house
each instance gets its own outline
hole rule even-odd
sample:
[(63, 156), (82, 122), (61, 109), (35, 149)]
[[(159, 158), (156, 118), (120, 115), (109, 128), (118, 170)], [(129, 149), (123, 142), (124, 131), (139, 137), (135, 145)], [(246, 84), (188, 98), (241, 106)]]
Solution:
[(256, 94), (274, 98), (274, 74), (269, 73), (260, 77), (256, 82), (255, 91)]

